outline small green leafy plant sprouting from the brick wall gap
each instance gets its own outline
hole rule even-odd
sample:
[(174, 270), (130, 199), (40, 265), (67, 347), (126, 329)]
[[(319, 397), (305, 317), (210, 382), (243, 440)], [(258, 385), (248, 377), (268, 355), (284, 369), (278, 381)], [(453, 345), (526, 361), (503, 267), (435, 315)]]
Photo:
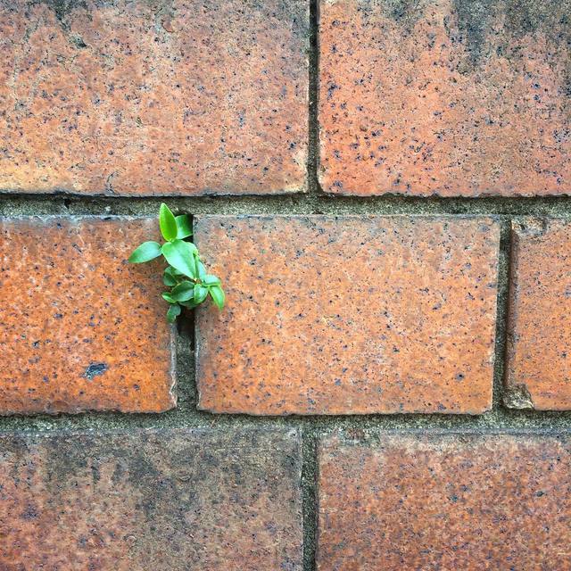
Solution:
[(159, 226), (166, 243), (144, 242), (129, 256), (128, 261), (140, 264), (164, 256), (169, 265), (162, 274), (162, 282), (170, 290), (162, 294), (162, 299), (170, 304), (167, 310), (169, 323), (175, 322), (183, 307), (193, 309), (209, 295), (221, 310), (225, 295), (219, 278), (206, 273), (196, 246), (185, 240), (193, 234), (190, 219), (186, 215), (175, 216), (162, 203)]

